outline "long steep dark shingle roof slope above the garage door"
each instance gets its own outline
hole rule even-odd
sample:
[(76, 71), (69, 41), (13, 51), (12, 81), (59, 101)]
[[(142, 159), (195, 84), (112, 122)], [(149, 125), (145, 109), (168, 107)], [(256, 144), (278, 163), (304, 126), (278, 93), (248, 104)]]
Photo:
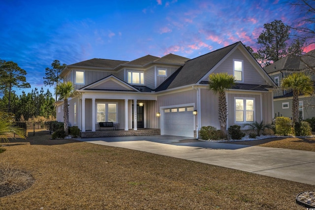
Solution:
[(161, 86), (166, 89), (171, 89), (197, 83), (238, 43), (240, 42), (236, 42), (232, 45), (226, 46), (203, 56), (199, 56), (195, 59), (188, 60), (183, 68), (178, 70), (179, 72), (177, 72), (176, 77), (170, 77), (172, 81), (164, 81), (164, 83), (170, 83), (167, 87), (165, 84), (161, 84)]

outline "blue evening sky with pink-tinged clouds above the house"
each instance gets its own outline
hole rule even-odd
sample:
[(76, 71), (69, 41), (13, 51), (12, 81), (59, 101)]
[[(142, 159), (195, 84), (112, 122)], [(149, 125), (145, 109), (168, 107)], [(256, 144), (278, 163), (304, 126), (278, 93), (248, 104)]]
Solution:
[(46, 91), (53, 60), (195, 58), (237, 41), (256, 51), (263, 24), (297, 18), (284, 0), (1, 0), (0, 59)]

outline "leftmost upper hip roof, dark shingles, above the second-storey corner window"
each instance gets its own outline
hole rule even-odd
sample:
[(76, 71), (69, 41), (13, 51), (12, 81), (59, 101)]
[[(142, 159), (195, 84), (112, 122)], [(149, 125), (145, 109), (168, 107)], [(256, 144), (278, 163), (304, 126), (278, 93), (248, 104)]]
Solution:
[[(125, 60), (108, 60), (108, 59), (91, 59), (82, 62), (73, 63), (74, 66), (89, 66), (89, 67), (102, 67), (102, 68), (115, 68), (116, 66), (126, 63)], [(69, 65), (69, 66), (71, 66)]]

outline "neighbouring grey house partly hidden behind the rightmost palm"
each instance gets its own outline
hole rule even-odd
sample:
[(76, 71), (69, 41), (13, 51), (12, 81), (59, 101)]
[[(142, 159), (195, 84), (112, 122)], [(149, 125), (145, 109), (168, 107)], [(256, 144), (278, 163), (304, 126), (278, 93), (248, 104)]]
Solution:
[[(303, 56), (287, 56), (268, 66), (264, 69), (269, 76), (274, 80), (278, 87), (281, 86), (281, 81), (294, 71), (313, 71), (312, 79), (315, 80), (315, 50), (308, 52)], [(292, 90), (281, 90), (278, 88), (274, 92), (274, 117), (292, 118)], [(299, 96), (299, 113), (301, 119), (315, 117), (315, 98), (305, 95)], [(312, 106), (313, 105), (313, 106)]]

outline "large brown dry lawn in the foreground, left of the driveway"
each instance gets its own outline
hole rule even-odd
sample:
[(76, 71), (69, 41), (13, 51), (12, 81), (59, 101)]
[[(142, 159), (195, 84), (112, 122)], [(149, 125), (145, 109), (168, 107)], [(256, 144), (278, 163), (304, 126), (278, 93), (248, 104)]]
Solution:
[(5, 210), (304, 210), (295, 196), (314, 190), (314, 185), (49, 136), (8, 145), (0, 162), (35, 181), (1, 197)]

